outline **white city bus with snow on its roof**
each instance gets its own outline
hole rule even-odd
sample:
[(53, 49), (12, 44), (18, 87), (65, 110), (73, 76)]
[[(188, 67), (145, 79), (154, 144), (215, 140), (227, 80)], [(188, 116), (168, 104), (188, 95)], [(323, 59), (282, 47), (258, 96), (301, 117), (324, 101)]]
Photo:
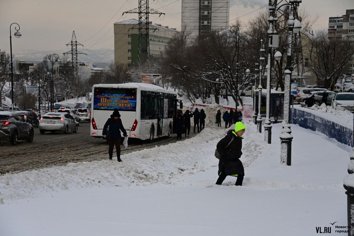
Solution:
[(103, 138), (103, 126), (117, 108), (130, 138), (153, 140), (170, 136), (177, 114), (177, 94), (160, 86), (144, 83), (97, 84), (92, 87), (92, 137)]

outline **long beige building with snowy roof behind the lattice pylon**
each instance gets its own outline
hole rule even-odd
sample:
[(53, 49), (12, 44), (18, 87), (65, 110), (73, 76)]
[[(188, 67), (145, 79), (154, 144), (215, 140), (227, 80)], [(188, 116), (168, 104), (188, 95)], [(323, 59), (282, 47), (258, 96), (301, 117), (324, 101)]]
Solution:
[[(136, 19), (130, 19), (114, 23), (114, 64), (135, 64), (138, 61), (138, 23)], [(159, 56), (163, 53), (170, 40), (177, 34), (175, 28), (150, 24), (149, 48), (150, 55)], [(146, 52), (145, 52), (146, 53)]]

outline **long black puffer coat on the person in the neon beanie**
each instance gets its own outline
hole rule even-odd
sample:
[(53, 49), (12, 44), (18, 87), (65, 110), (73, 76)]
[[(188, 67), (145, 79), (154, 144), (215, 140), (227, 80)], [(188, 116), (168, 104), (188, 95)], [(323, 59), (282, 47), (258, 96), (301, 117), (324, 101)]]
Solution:
[[(230, 129), (227, 132), (227, 135), (216, 145), (216, 149), (220, 154), (218, 170), (219, 175), (223, 171), (226, 175), (245, 174), (244, 167), (240, 161), (243, 138), (237, 136), (232, 131), (233, 130)], [(234, 136), (234, 140), (232, 140), (230, 145), (227, 146), (227, 144), (231, 141), (232, 136)], [(227, 148), (225, 149), (226, 146)]]

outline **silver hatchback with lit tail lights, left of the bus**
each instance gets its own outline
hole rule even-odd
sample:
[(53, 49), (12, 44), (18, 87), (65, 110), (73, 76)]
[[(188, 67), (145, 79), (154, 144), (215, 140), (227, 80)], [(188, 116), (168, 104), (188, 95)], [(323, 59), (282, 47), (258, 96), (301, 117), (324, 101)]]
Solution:
[(78, 132), (78, 123), (69, 113), (46, 113), (39, 122), (39, 132)]

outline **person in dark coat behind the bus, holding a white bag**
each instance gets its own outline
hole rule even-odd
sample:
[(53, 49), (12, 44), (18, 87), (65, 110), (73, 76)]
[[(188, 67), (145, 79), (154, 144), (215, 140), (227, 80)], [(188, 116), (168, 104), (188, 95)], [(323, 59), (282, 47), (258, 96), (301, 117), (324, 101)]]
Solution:
[(122, 131), (124, 137), (128, 137), (128, 134), (123, 127), (122, 120), (120, 119), (119, 111), (115, 108), (111, 117), (108, 118), (108, 120), (104, 124), (102, 131), (103, 138), (107, 138), (109, 144), (109, 160), (112, 160), (113, 148), (115, 145), (117, 160), (122, 161), (120, 159), (120, 139), (122, 137), (120, 135), (120, 131)]

